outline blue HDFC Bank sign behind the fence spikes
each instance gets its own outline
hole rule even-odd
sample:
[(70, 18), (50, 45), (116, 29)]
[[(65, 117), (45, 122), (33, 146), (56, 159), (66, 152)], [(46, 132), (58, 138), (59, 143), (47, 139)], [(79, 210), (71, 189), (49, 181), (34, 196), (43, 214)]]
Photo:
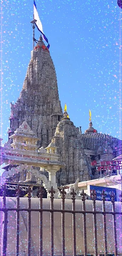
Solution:
[(117, 201), (116, 189), (90, 185), (90, 193), (92, 193), (93, 189), (96, 191), (96, 200), (101, 200), (101, 193), (104, 189), (104, 191), (106, 193), (106, 201), (111, 201), (110, 195), (111, 195), (112, 191), (114, 192), (115, 201)]

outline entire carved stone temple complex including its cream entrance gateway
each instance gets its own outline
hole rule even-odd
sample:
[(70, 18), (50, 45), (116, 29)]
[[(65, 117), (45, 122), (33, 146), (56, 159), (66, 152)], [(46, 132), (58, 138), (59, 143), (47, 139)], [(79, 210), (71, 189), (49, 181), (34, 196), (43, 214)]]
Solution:
[(43, 184), (45, 197), (51, 186), (58, 197), (58, 187), (120, 175), (121, 161), (115, 158), (122, 154), (121, 141), (100, 134), (91, 118), (82, 133), (66, 105), (62, 112), (54, 64), (41, 36), (31, 51), (20, 96), (11, 103), (9, 120), (8, 142), (1, 147), (1, 183), (9, 192), (19, 183), (24, 196), (30, 184), (36, 197)]

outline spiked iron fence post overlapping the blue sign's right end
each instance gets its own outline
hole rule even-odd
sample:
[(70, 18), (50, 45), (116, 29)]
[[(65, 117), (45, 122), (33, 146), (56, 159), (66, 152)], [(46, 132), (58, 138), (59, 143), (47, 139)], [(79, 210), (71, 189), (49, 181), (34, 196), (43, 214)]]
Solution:
[(117, 251), (117, 228), (116, 228), (116, 213), (115, 213), (115, 196), (114, 192), (112, 191), (111, 195), (111, 206), (112, 206), (112, 221), (113, 221), (113, 233), (114, 233), (114, 256), (118, 255)]

